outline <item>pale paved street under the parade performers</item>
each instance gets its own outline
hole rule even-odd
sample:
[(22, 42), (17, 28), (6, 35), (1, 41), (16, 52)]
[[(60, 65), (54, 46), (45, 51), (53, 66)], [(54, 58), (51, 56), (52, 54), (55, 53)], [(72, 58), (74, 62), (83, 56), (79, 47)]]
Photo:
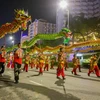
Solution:
[(82, 70), (78, 76), (66, 71), (66, 80), (56, 79), (56, 70), (38, 76), (35, 69), (20, 74), (20, 83), (14, 84), (13, 70), (6, 69), (0, 77), (0, 100), (100, 100), (100, 78), (87, 76)]

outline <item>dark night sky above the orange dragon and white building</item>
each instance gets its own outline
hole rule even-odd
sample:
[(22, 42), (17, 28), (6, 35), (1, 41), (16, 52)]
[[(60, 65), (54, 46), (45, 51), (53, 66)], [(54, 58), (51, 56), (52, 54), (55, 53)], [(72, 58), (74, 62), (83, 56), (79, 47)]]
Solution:
[[(48, 22), (56, 22), (56, 9), (59, 0), (0, 0), (0, 26), (12, 22), (14, 19), (14, 9), (28, 10), (35, 19), (45, 19)], [(13, 35), (15, 43), (20, 40), (20, 31)], [(4, 38), (0, 39), (0, 46), (4, 44)], [(6, 36), (6, 46), (12, 45), (9, 35)]]

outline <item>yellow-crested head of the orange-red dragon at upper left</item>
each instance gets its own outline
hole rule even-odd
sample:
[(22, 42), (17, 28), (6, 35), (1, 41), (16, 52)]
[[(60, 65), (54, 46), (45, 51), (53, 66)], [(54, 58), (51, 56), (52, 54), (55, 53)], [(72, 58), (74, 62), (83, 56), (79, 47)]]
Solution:
[(15, 19), (21, 25), (23, 30), (27, 29), (27, 23), (31, 21), (31, 16), (28, 15), (28, 12), (24, 10), (15, 10)]

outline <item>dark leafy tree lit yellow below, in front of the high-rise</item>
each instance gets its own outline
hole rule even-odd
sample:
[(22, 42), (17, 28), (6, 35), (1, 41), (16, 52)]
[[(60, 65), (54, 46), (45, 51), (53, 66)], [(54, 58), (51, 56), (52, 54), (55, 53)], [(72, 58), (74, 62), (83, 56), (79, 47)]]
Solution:
[(70, 16), (70, 29), (73, 32), (75, 41), (87, 41), (100, 38), (100, 19), (85, 18), (81, 16)]

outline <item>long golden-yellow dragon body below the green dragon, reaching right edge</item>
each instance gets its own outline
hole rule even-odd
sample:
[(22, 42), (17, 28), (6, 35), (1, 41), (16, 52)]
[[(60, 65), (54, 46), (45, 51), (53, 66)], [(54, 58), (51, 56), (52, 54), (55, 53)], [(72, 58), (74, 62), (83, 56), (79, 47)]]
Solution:
[(46, 46), (45, 48), (39, 48), (39, 47), (35, 46), (29, 52), (30, 52), (30, 54), (33, 54), (33, 53), (36, 53), (36, 52), (53, 52), (53, 53), (57, 53), (57, 51), (60, 48), (65, 48), (65, 51), (67, 53), (74, 53), (75, 51), (73, 51), (73, 48), (87, 47), (86, 49), (78, 51), (78, 52), (84, 53), (84, 52), (89, 52), (91, 50), (100, 50), (100, 45), (99, 44), (100, 44), (100, 39), (96, 40), (96, 41), (81, 42), (81, 43), (73, 44), (73, 45), (70, 45), (70, 46), (58, 45), (56, 47)]

